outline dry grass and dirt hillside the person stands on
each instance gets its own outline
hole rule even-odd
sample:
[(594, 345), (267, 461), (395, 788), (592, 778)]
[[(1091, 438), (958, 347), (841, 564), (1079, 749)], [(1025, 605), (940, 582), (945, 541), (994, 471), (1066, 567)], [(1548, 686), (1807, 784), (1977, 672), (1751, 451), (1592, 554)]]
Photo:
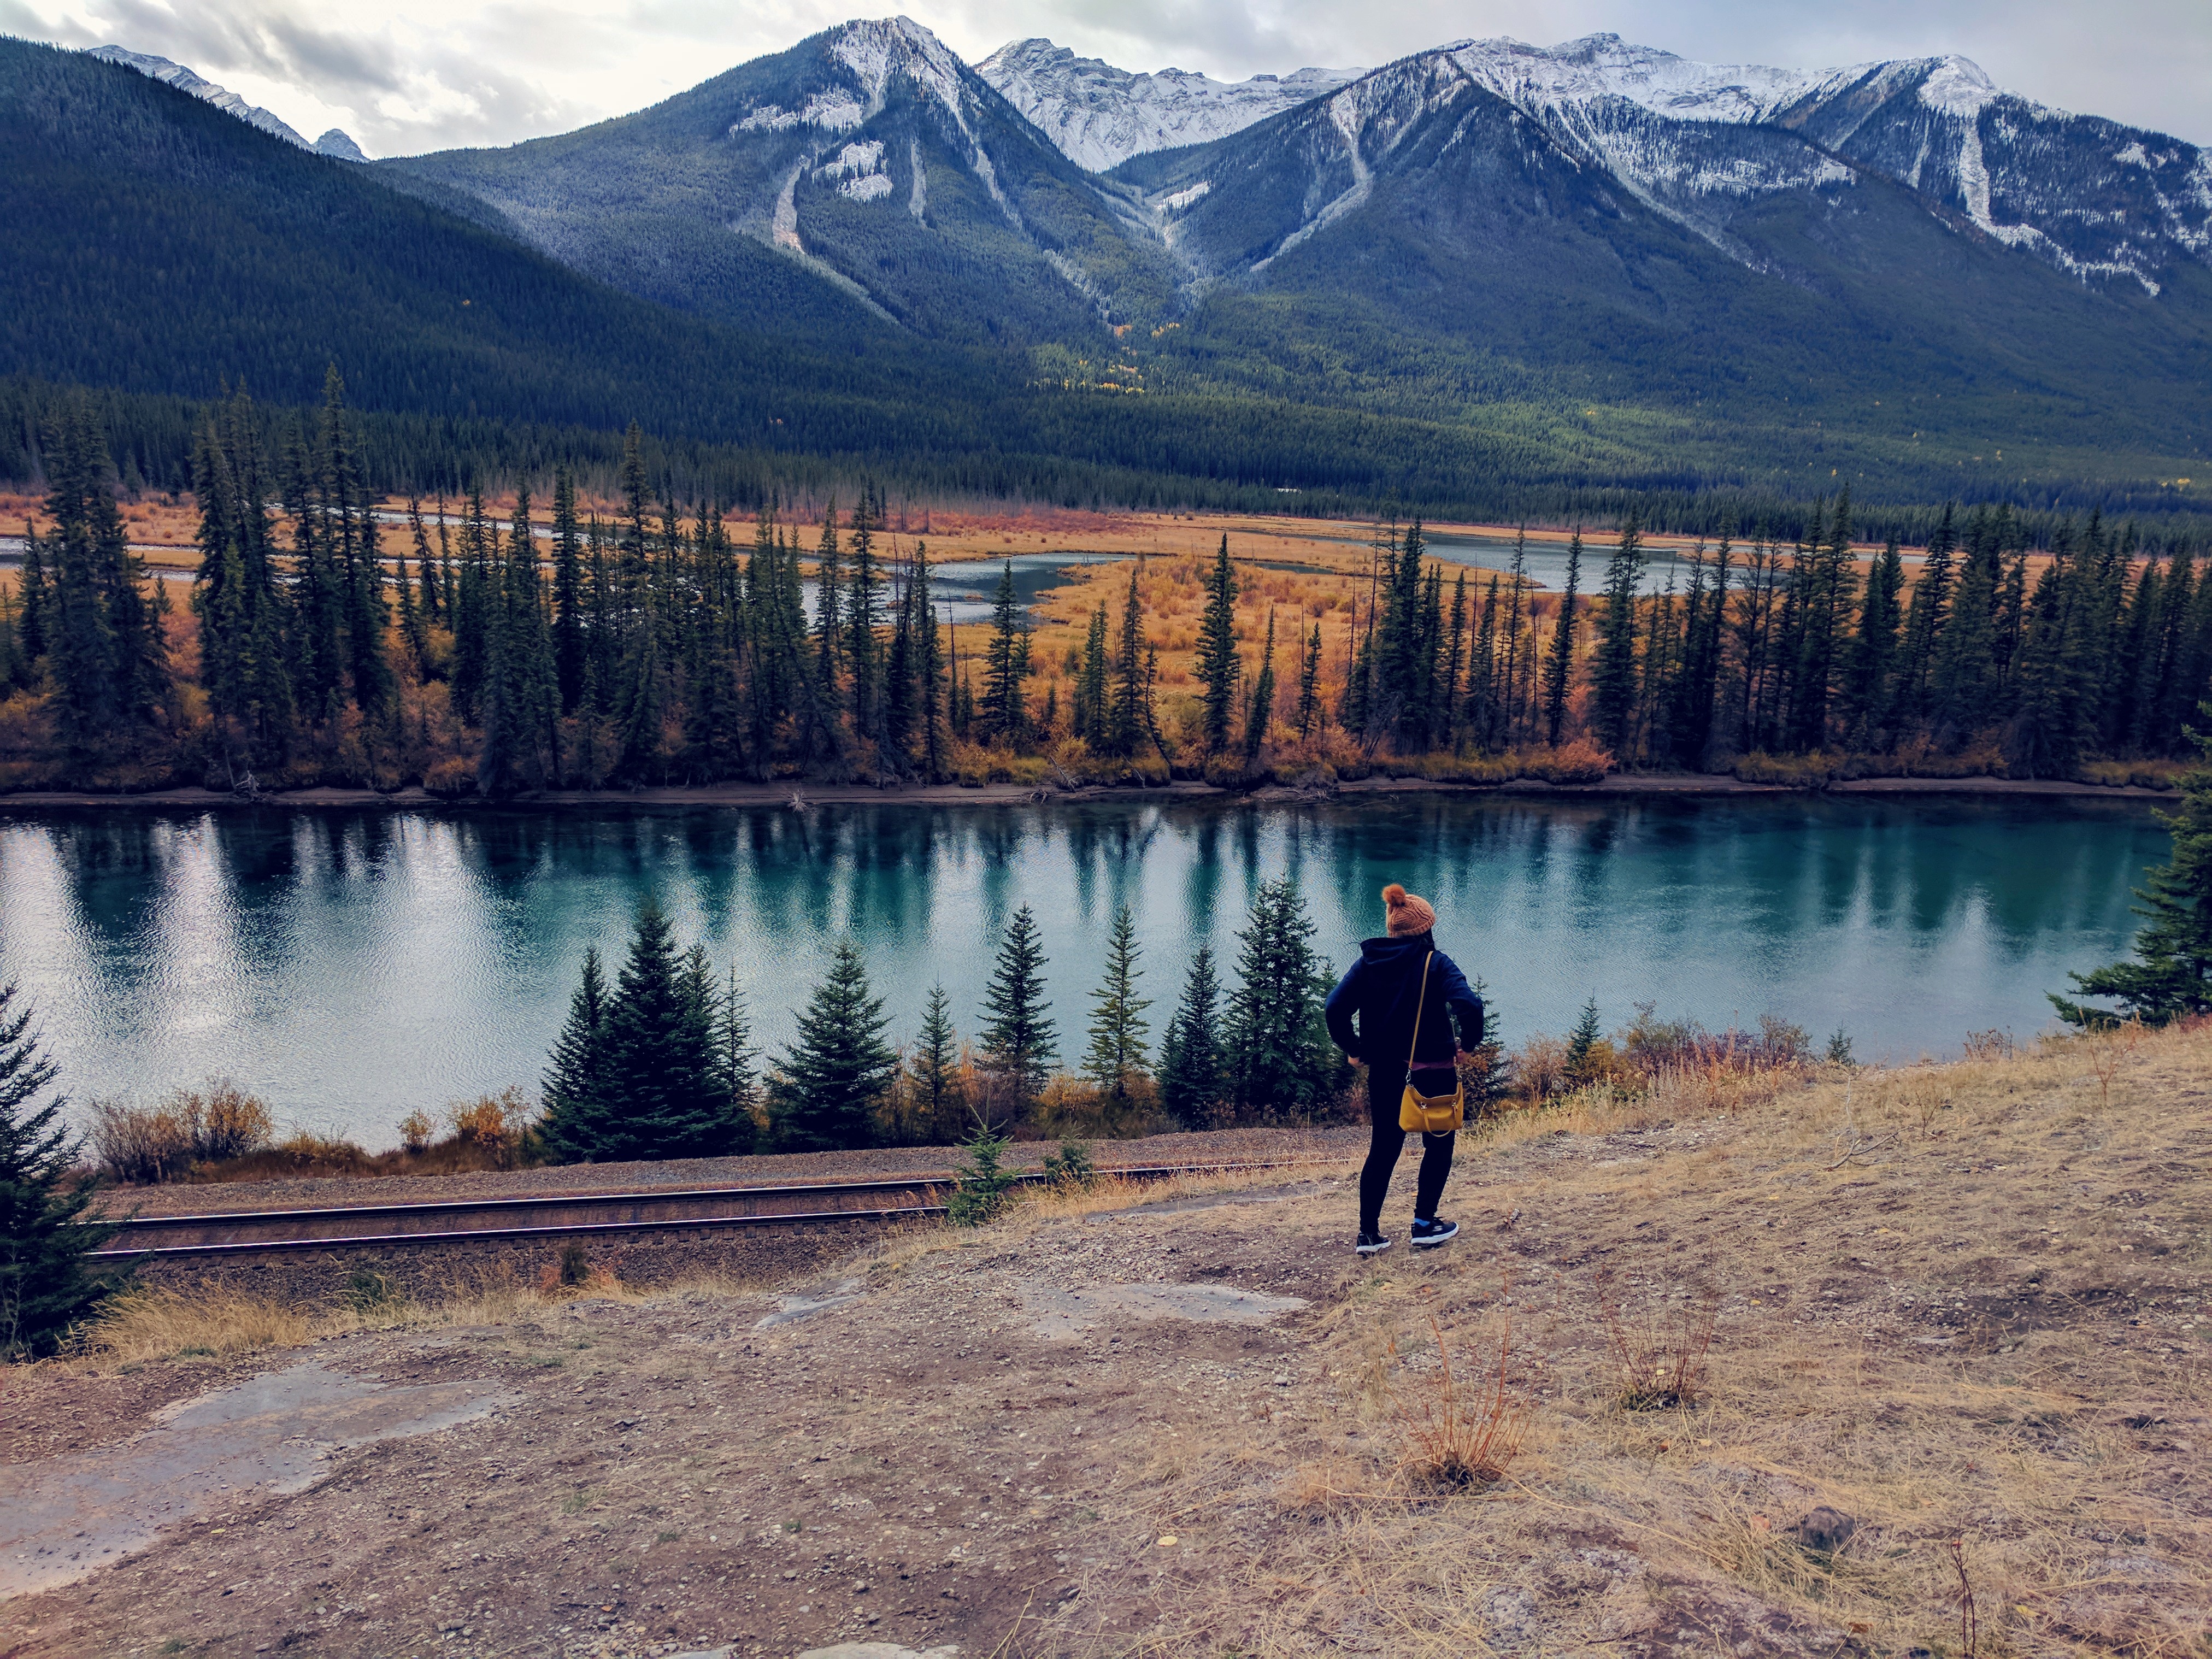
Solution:
[[(1433, 1254), (1400, 1190), (1352, 1256), (1347, 1166), (261, 1352), (144, 1310), (0, 1374), (0, 1655), (2201, 1652), (2212, 1031), (1721, 1106), (1469, 1144)], [(1475, 1425), (1504, 1354), (1493, 1484), (1422, 1475), (1438, 1336)]]

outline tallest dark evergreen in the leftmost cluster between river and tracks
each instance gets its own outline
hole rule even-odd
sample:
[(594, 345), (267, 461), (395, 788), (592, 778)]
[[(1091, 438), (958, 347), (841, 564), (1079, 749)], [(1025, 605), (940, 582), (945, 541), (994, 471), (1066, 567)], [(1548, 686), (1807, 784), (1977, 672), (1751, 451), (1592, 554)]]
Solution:
[(606, 1004), (595, 1159), (719, 1157), (743, 1144), (714, 1035), (712, 998), (648, 902)]

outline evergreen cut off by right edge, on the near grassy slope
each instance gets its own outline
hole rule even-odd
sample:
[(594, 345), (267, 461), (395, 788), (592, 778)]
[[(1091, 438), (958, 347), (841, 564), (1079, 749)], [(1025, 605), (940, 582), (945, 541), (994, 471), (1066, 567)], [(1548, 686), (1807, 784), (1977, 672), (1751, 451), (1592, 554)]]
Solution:
[[(2212, 703), (2201, 710), (2212, 719)], [(2212, 732), (2192, 732), (2199, 761), (2181, 774), (2181, 810), (2161, 812), (2174, 854), (2137, 889), (2132, 962), (2070, 973), (2075, 998), (2108, 998), (2119, 1013), (2075, 998), (2051, 1004), (2073, 1026), (2106, 1029), (2121, 1018), (2163, 1026), (2212, 1013)]]

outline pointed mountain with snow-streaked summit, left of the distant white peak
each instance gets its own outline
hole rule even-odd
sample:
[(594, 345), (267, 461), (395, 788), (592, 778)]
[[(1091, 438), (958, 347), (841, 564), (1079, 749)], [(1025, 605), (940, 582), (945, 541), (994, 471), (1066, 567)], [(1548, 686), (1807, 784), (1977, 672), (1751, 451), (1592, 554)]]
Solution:
[(1175, 303), (1133, 192), (1088, 179), (905, 18), (582, 133), (380, 170), (471, 192), (555, 259), (750, 327), (876, 319), (1026, 345)]

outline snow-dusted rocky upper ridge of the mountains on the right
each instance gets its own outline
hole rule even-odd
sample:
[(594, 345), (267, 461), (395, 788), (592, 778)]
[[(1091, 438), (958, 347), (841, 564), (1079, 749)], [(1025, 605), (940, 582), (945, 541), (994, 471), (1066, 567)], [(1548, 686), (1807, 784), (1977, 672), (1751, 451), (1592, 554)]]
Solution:
[[(2203, 150), (2017, 97), (1966, 58), (1794, 71), (1701, 64), (1601, 33), (1559, 46), (1458, 40), (1336, 91), (1298, 142), (1334, 150), (1340, 173), (1254, 268), (1360, 206), (1409, 133), (1464, 119), (1480, 93), (1752, 265), (1765, 261), (1730, 230), (1741, 204), (1849, 190), (1860, 175), (1896, 179), (1938, 217), (2079, 279), (2132, 279), (2154, 296), (2174, 254), (2212, 261)], [(1177, 215), (1199, 210), (1199, 184), (1179, 175), (1177, 199), (1152, 204), (1170, 239)]]

